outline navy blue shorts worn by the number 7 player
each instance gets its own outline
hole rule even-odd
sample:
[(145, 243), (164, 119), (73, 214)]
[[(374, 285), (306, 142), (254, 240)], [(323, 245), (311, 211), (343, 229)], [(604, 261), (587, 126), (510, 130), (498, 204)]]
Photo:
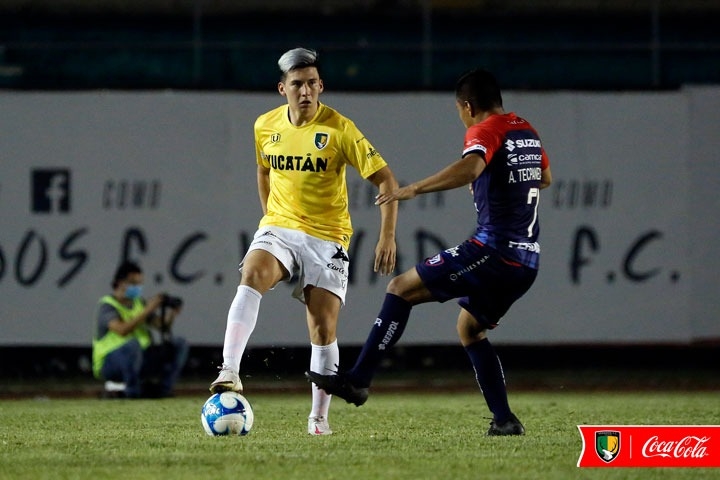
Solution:
[(502, 258), (473, 240), (415, 265), (425, 287), (440, 303), (457, 298), (483, 328), (493, 329), (537, 277), (537, 270)]

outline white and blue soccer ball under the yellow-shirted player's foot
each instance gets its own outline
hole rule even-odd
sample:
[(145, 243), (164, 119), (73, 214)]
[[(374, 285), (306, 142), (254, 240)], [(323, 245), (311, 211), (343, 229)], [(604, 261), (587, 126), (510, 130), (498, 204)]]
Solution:
[(254, 419), (250, 402), (237, 392), (212, 395), (200, 411), (200, 421), (210, 436), (247, 435)]

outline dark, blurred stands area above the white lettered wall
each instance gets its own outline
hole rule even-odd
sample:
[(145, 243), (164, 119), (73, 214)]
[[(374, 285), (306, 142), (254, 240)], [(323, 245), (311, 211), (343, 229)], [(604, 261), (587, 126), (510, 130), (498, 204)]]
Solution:
[[(14, 10), (0, 15), (0, 87), (267, 91), (273, 59), (296, 45), (322, 53), (334, 90), (447, 90), (471, 65), (498, 72), (506, 89), (720, 83), (720, 9), (511, 13), (436, 3), (430, 14)], [(475, 27), (460, 27), (467, 22)]]

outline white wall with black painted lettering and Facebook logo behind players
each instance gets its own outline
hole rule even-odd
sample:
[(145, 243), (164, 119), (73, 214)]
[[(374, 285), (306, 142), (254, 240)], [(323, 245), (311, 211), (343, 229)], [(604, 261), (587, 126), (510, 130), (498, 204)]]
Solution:
[[(506, 110), (540, 132), (555, 182), (541, 200), (540, 275), (492, 333), (497, 342), (720, 336), (717, 281), (706, 273), (718, 260), (694, 254), (717, 231), (717, 200), (697, 192), (718, 185), (718, 149), (690, 131), (708, 118), (715, 127), (706, 130), (718, 131), (717, 98), (713, 89), (505, 94)], [(452, 93), (322, 100), (355, 121), (401, 183), (458, 158)], [(185, 299), (179, 334), (221, 344), (237, 265), (261, 214), (252, 125), (281, 102), (246, 93), (0, 94), (0, 345), (89, 344), (96, 302), (122, 258), (142, 265), (146, 293)], [(354, 171), (348, 183), (355, 235), (339, 337), (361, 344), (388, 277), (371, 268), (374, 190)], [(466, 189), (402, 203), (399, 268), (460, 243), (474, 222)], [(420, 305), (403, 342), (453, 343), (456, 317), (453, 302)], [(280, 285), (263, 299), (251, 344), (305, 345), (305, 325), (303, 306)]]

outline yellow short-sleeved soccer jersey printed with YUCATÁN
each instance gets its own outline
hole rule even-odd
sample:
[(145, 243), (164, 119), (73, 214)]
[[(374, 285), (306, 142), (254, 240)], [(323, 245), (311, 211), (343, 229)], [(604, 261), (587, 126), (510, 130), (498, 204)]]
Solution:
[(257, 163), (270, 169), (267, 214), (260, 227), (275, 225), (350, 245), (345, 166), (363, 178), (387, 165), (355, 124), (320, 105), (302, 127), (288, 119), (287, 105), (255, 121)]

